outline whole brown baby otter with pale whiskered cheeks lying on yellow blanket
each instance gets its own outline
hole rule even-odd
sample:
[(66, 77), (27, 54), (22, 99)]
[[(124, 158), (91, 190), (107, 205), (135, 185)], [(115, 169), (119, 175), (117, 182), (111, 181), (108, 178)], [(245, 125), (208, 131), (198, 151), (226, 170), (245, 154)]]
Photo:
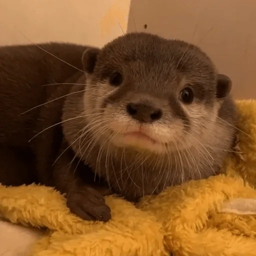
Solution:
[(106, 221), (107, 193), (135, 201), (220, 171), (231, 81), (197, 46), (128, 33), (39, 47), (0, 48), (0, 182), (54, 186), (71, 212)]

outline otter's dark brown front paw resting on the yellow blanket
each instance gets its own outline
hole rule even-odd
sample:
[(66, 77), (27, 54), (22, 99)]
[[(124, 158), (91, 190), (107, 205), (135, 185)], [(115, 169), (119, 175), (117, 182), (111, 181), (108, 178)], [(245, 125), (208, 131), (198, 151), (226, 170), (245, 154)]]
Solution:
[(107, 221), (111, 218), (104, 197), (89, 186), (71, 189), (66, 196), (66, 205), (72, 213), (85, 220)]

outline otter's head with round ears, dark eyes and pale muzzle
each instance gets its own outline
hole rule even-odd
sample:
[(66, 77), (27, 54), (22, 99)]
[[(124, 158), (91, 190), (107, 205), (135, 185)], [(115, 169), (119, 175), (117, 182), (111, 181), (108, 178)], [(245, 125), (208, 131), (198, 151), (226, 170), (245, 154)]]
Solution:
[(204, 144), (230, 79), (199, 48), (146, 33), (83, 54), (86, 122), (115, 147), (168, 153)]

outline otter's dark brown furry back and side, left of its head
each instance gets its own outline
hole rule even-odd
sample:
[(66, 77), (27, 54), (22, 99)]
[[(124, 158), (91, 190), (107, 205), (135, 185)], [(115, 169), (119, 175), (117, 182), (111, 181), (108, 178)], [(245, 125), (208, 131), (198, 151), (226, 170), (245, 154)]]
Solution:
[[(61, 141), (61, 129), (53, 127), (29, 140), (61, 120), (63, 100), (27, 110), (67, 94), (70, 88), (70, 85), (45, 84), (65, 82), (81, 73), (78, 69), (82, 69), (81, 56), (86, 46), (71, 43), (38, 46), (0, 47), (0, 158), (5, 163), (1, 167), (0, 182), (3, 184), (36, 181), (36, 165), (41, 165), (41, 169), (51, 166)], [(40, 182), (49, 182), (50, 174), (42, 176)]]

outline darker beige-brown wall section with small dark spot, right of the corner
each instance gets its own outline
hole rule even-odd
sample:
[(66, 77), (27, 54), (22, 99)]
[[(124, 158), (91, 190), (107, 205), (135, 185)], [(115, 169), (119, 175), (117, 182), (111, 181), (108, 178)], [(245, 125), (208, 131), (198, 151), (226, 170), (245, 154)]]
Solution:
[(235, 97), (256, 98), (255, 0), (131, 0), (134, 30), (201, 46), (232, 78)]

